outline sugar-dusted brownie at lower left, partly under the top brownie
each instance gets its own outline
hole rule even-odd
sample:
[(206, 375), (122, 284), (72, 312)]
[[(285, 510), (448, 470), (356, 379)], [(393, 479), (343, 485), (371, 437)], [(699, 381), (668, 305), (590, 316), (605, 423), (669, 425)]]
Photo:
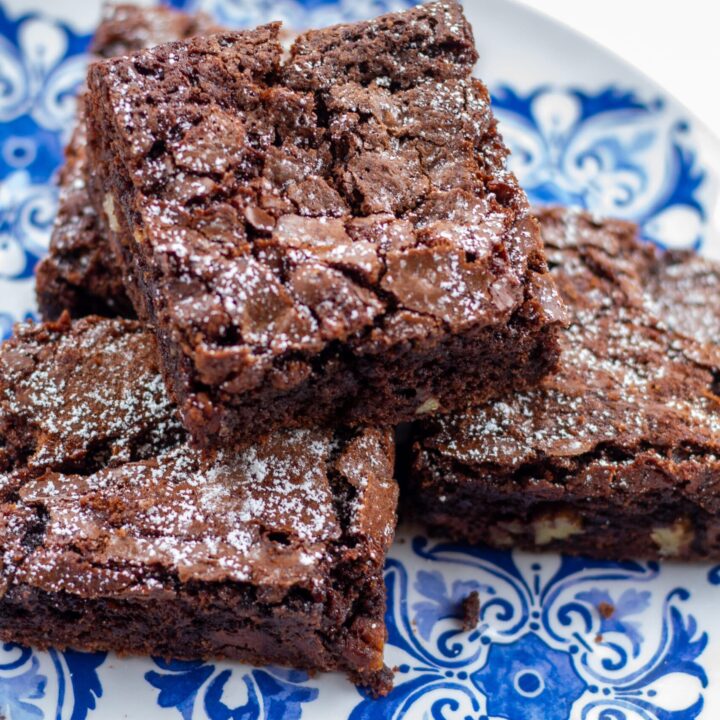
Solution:
[(0, 638), (337, 669), (385, 692), (391, 433), (298, 429), (203, 454), (154, 344), (87, 318), (3, 345)]

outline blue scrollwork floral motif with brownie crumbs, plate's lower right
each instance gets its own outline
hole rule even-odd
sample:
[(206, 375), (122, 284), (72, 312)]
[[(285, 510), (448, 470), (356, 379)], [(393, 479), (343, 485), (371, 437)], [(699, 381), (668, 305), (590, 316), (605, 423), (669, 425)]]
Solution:
[[(383, 700), (363, 699), (351, 720), (693, 720), (700, 713), (707, 676), (698, 658), (707, 635), (683, 612), (688, 591), (657, 596), (641, 588), (658, 578), (656, 563), (532, 558), (425, 538), (412, 549), (410, 572), (399, 560), (386, 572), (395, 688)], [(478, 588), (479, 623), (466, 633), (453, 603)], [(670, 675), (687, 685), (680, 707), (658, 694)]]

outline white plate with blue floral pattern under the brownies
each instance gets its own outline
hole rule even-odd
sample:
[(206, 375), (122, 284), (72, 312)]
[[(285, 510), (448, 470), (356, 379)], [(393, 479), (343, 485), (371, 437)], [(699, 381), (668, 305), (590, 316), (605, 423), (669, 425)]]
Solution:
[[(227, 25), (303, 27), (410, 0), (171, 0)], [(34, 311), (33, 268), (99, 0), (0, 0), (0, 335)], [(507, 0), (467, 0), (512, 166), (535, 202), (630, 218), (720, 257), (720, 144), (633, 68)], [(648, 25), (648, 32), (651, 31)], [(689, 70), (689, 69), (688, 69)], [(0, 650), (12, 720), (720, 718), (720, 567), (492, 552), (400, 533), (387, 563), (380, 701), (344, 678), (235, 663)], [(480, 624), (462, 633), (460, 599)], [(611, 603), (602, 617), (597, 607)]]

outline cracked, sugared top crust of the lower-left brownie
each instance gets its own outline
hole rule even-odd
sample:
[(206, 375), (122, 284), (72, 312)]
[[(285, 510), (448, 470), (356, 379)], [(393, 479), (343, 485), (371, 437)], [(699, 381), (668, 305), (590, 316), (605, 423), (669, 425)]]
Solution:
[(12, 581), (97, 597), (233, 580), (272, 601), (295, 583), (321, 589), (356, 544), (381, 566), (397, 496), (389, 431), (194, 450), (154, 343), (136, 322), (63, 318), (3, 345), (0, 594)]

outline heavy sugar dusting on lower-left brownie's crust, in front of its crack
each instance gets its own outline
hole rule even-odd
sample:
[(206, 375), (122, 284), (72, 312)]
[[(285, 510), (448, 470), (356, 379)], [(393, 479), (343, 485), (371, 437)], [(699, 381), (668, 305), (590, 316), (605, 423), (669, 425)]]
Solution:
[(282, 568), (275, 581), (291, 584), (340, 540), (329, 449), (322, 434), (296, 431), (239, 456), (203, 457), (181, 444), (87, 477), (50, 474), (29, 482), (21, 498), (41, 504), (48, 520), (42, 555), (22, 579), (53, 578), (63, 589), (86, 592), (90, 580), (82, 573), (55, 574), (70, 547), (86, 547), (95, 562), (125, 573), (162, 565), (183, 580), (261, 581)]

